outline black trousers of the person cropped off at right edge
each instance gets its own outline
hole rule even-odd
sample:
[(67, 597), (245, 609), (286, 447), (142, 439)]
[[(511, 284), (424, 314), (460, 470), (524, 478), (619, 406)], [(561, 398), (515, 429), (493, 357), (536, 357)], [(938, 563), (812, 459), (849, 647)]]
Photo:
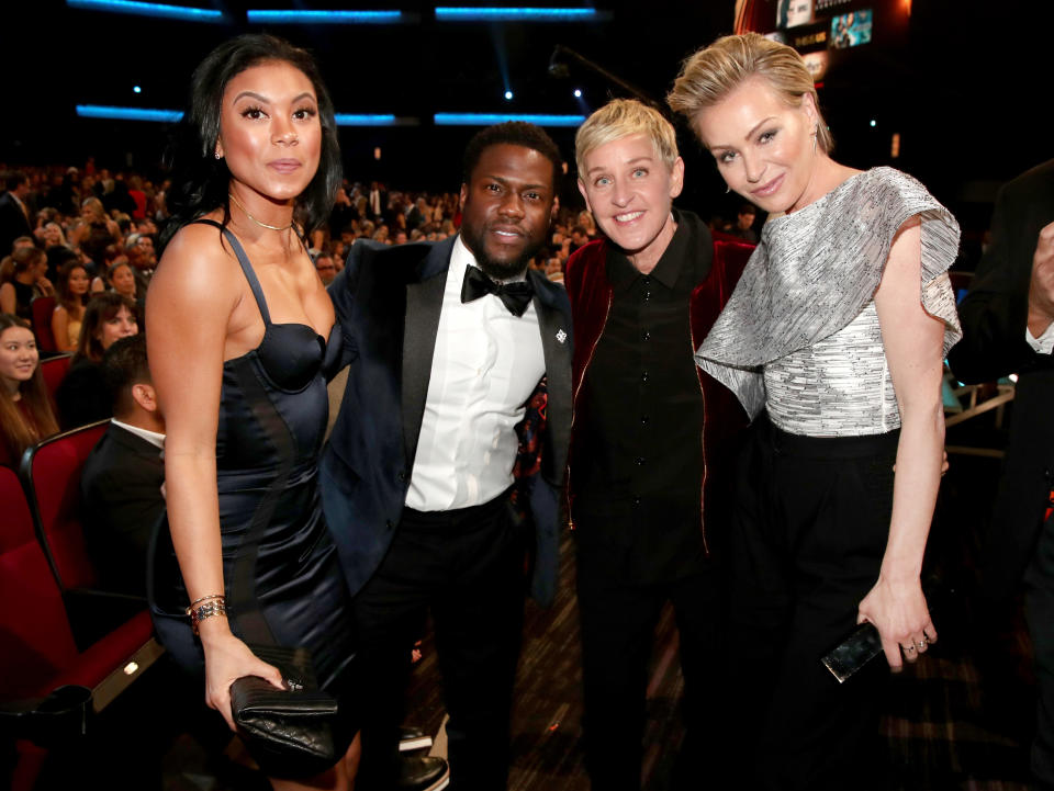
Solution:
[(1024, 575), (1024, 614), (1039, 693), (1032, 773), (1044, 789), (1054, 789), (1054, 516), (1043, 526)]

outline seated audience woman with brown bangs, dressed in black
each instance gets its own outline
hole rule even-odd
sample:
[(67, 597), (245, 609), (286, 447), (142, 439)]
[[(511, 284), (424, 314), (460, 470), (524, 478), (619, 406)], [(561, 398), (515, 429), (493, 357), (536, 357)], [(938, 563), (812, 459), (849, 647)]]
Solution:
[(104, 292), (88, 301), (77, 350), (55, 393), (64, 429), (111, 416), (110, 394), (102, 376), (102, 354), (117, 339), (138, 331), (135, 303), (126, 296)]

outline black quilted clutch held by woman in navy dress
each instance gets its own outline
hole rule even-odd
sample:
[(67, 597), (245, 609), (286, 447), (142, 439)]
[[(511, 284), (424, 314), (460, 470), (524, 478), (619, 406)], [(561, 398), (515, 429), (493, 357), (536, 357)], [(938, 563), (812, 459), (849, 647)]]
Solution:
[(250, 645), (253, 653), (282, 671), (285, 689), (256, 676), (231, 685), (231, 713), (249, 755), (269, 777), (319, 775), (343, 756), (337, 701), (318, 689), (306, 648)]

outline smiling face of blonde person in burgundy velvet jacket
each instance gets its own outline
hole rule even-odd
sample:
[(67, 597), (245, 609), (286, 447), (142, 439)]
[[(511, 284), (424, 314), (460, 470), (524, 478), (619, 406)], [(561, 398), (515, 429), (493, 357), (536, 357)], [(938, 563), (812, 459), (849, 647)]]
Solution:
[(654, 265), (673, 238), (670, 214), (684, 185), (684, 162), (668, 167), (644, 134), (621, 137), (586, 152), (579, 190), (607, 237), (638, 268)]

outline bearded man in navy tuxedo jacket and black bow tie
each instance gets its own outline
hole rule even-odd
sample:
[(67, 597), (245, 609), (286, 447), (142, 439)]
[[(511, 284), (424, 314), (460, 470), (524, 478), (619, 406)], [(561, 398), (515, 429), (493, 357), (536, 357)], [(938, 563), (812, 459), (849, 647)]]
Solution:
[(546, 601), (571, 422), (567, 293), (527, 271), (561, 161), (537, 126), (483, 129), (464, 155), (460, 234), (359, 241), (329, 286), (350, 371), (321, 482), (356, 595), (365, 789), (396, 784), (403, 687), (428, 610), (451, 788), (506, 784), (528, 542), (532, 531), (532, 594)]

